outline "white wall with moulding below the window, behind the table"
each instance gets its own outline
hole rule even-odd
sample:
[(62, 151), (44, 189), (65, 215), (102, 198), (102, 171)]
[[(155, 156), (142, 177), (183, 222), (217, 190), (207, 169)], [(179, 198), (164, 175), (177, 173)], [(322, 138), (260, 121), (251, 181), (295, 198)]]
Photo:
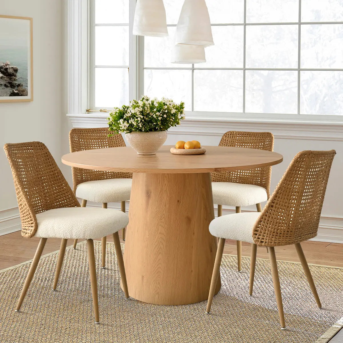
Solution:
[[(107, 126), (107, 116), (106, 114), (70, 115), (70, 119), (74, 127), (104, 127)], [(272, 168), (271, 192), (299, 151), (335, 149), (337, 154), (333, 160), (318, 236), (315, 240), (343, 243), (343, 122), (306, 123), (241, 118), (189, 118), (182, 121), (181, 126), (168, 130), (165, 144), (174, 145), (179, 140), (195, 139), (202, 145), (218, 145), (222, 134), (229, 130), (269, 131), (274, 134), (274, 151), (281, 153), (284, 159), (281, 164)], [(111, 204), (109, 207), (120, 208), (120, 205)], [(250, 206), (242, 210), (256, 211), (256, 208)], [(223, 206), (224, 214), (233, 211), (233, 208)]]

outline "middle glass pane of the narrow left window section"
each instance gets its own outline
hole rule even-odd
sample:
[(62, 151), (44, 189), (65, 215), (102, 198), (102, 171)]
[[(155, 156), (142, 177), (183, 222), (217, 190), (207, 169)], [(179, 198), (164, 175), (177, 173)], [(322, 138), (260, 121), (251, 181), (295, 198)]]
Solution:
[(95, 27), (95, 65), (129, 65), (129, 27)]

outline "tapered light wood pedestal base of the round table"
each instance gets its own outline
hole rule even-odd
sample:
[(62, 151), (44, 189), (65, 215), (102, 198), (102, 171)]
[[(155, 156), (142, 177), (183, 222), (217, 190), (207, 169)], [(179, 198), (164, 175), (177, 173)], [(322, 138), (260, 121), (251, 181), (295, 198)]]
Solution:
[(159, 305), (206, 300), (217, 249), (213, 218), (210, 173), (134, 173), (124, 251), (130, 296)]

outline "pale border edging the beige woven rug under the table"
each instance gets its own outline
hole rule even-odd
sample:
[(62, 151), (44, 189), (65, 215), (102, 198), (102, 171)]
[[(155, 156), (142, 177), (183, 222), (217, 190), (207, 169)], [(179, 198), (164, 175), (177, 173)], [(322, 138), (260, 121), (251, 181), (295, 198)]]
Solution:
[[(109, 244), (113, 244), (112, 242), (107, 242)], [(81, 241), (80, 243), (78, 243), (79, 245), (84, 245), (86, 244), (86, 241)], [(121, 246), (125, 246), (125, 243), (121, 243)], [(66, 249), (72, 249), (73, 246), (70, 245), (68, 246)], [(52, 251), (52, 252), (49, 252), (45, 255), (43, 255), (41, 258), (44, 258), (44, 257), (48, 257), (50, 255), (53, 255), (55, 253), (59, 252), (59, 250), (55, 250), (55, 251)], [(223, 254), (223, 255), (226, 255), (226, 256), (237, 256), (235, 254)], [(269, 259), (265, 259), (265, 258), (259, 258), (260, 260), (265, 260), (265, 261), (269, 261)], [(25, 262), (22, 262), (22, 263), (19, 263), (19, 264), (16, 264), (16, 265), (13, 265), (12, 267), (9, 267), (9, 268), (5, 268), (5, 269), (2, 269), (0, 270), (0, 274), (3, 273), (3, 272), (6, 272), (8, 270), (12, 270), (12, 269), (15, 269), (17, 267), (20, 267), (21, 265), (24, 265), (24, 264), (28, 264), (28, 263), (31, 263), (33, 259), (31, 260), (28, 260), (28, 261), (25, 261)], [(295, 261), (286, 261), (286, 260), (278, 260), (280, 262), (287, 262), (287, 263), (293, 263), (293, 264), (300, 264), (300, 262), (295, 262)], [(322, 264), (313, 264), (313, 263), (309, 263), (309, 265), (314, 265), (314, 266), (317, 266), (317, 267), (324, 267), (324, 268), (333, 268), (333, 269), (343, 269), (343, 267), (335, 267), (335, 266), (330, 266), (330, 265), (322, 265)], [(329, 343), (329, 341), (339, 332), (341, 331), (341, 329), (343, 328), (343, 317), (336, 323), (334, 323), (326, 332), (324, 332), (316, 342), (314, 343)]]

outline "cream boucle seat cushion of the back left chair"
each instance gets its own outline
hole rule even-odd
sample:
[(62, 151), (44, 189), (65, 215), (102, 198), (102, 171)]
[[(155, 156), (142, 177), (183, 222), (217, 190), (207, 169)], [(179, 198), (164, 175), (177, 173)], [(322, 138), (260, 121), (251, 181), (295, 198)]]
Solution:
[(75, 195), (94, 202), (117, 202), (130, 200), (132, 179), (107, 179), (82, 182)]

